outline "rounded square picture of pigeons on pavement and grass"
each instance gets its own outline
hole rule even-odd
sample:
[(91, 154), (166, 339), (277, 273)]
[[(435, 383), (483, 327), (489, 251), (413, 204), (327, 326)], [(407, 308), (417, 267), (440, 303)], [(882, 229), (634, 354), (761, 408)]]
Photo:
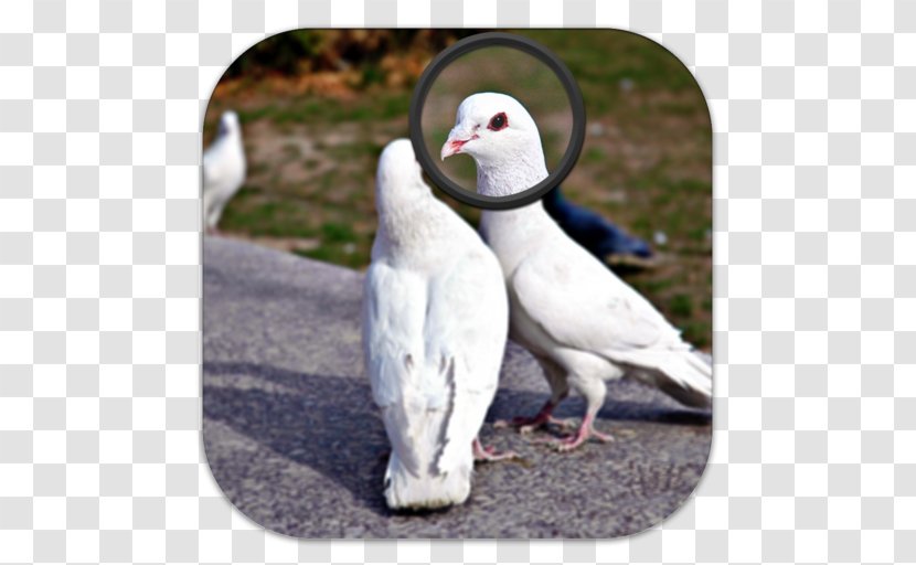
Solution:
[[(211, 96), (203, 441), (264, 527), (617, 537), (671, 515), (703, 473), (703, 94), (663, 46), (617, 30), (499, 32), (424, 83), (486, 35), (291, 31)], [(571, 148), (562, 185), (526, 202), (478, 207), (436, 182), (521, 194)]]

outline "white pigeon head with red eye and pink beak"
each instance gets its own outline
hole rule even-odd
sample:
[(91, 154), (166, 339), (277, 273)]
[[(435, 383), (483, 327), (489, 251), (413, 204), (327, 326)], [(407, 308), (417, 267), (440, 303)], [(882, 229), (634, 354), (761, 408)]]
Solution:
[(478, 167), (499, 167), (521, 152), (541, 150), (537, 125), (515, 98), (498, 93), (468, 96), (443, 146), (443, 160), (469, 154)]

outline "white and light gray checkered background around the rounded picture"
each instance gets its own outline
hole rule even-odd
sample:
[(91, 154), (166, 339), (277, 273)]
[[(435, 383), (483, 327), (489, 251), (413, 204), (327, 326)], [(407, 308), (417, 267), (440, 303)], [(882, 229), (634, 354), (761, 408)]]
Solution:
[[(611, 26), (715, 131), (715, 438), (694, 498), (599, 542), (311, 542), (200, 429), (200, 125), (297, 26)], [(0, 2), (0, 559), (916, 561), (916, 1)], [(614, 56), (609, 53), (608, 56)]]

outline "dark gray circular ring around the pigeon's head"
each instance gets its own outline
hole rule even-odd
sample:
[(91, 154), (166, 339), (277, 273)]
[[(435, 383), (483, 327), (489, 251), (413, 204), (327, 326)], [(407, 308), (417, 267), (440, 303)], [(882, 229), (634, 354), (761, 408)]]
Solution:
[[(441, 73), (441, 71), (449, 63), (461, 55), (482, 47), (493, 46), (512, 47), (522, 51), (547, 65), (547, 67), (554, 72), (556, 77), (560, 78), (560, 82), (563, 84), (563, 88), (566, 90), (566, 96), (569, 98), (569, 106), (573, 110), (573, 134), (569, 138), (569, 145), (566, 147), (566, 152), (563, 153), (563, 158), (561, 159), (556, 170), (551, 172), (546, 179), (539, 182), (534, 186), (508, 196), (487, 196), (476, 192), (470, 192), (446, 177), (446, 174), (439, 170), (439, 167), (429, 154), (429, 151), (426, 150), (420, 122), (423, 117), (423, 106), (426, 104), (426, 96), (429, 94), (429, 88), (432, 88), (433, 83), (439, 76), (439, 73)], [(576, 79), (573, 78), (573, 73), (569, 72), (556, 54), (544, 45), (541, 45), (536, 41), (528, 38), (513, 35), (511, 33), (479, 33), (466, 38), (439, 53), (423, 72), (423, 75), (419, 77), (419, 83), (414, 89), (414, 95), (411, 98), (409, 121), (411, 141), (413, 142), (417, 161), (419, 161), (420, 167), (423, 167), (423, 170), (426, 171), (429, 178), (433, 179), (433, 182), (435, 182), (449, 195), (464, 202), (465, 204), (488, 210), (509, 210), (524, 206), (546, 194), (551, 189), (563, 182), (563, 179), (565, 179), (566, 175), (569, 174), (569, 171), (573, 170), (573, 167), (576, 164), (576, 160), (578, 160), (579, 153), (582, 152), (582, 146), (585, 142), (585, 103), (583, 102), (578, 84), (576, 84)]]

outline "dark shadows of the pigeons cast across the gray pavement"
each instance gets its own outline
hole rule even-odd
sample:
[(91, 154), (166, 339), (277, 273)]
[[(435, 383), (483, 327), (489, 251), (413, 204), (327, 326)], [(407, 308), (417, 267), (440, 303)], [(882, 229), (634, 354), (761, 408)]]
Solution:
[[(370, 385), (363, 377), (221, 362), (204, 363), (204, 373), (207, 375), (203, 395), (204, 436), (207, 419), (222, 422), (271, 451), (338, 482), (374, 513), (391, 514), (381, 488), (390, 448)], [(213, 377), (226, 383), (235, 377), (277, 386), (266, 391), (260, 386), (213, 385)], [(518, 411), (522, 407), (536, 408), (545, 396), (532, 391), (500, 390), (487, 420), (521, 413)], [(569, 398), (557, 414), (578, 417), (583, 408), (581, 398)], [(710, 422), (707, 413), (613, 397), (599, 417), (696, 426)], [(217, 470), (214, 476), (219, 481)]]

